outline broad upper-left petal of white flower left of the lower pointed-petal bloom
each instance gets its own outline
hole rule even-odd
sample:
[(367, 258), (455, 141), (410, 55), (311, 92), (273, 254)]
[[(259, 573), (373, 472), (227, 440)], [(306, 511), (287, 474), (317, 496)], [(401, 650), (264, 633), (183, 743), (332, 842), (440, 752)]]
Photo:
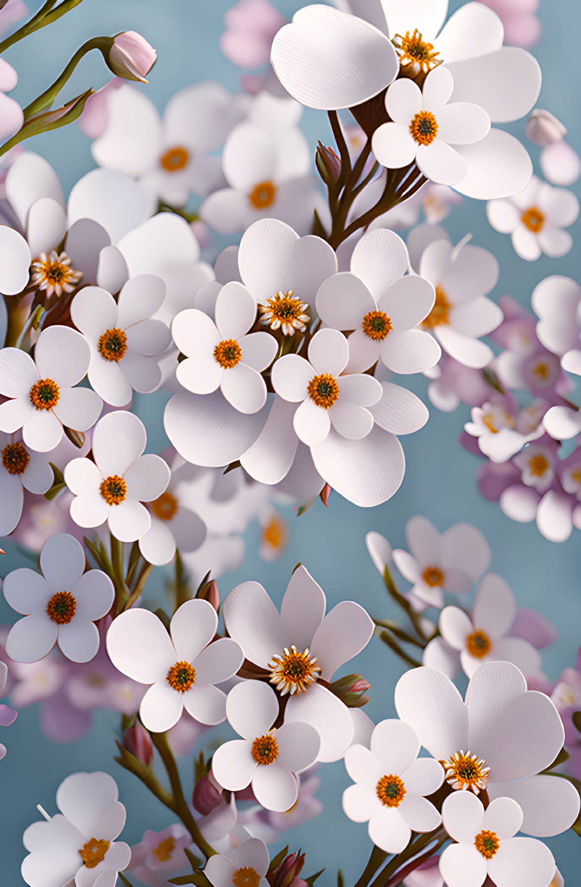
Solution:
[(143, 684), (164, 680), (177, 661), (176, 650), (161, 620), (141, 608), (126, 610), (114, 619), (107, 632), (106, 647), (115, 668)]

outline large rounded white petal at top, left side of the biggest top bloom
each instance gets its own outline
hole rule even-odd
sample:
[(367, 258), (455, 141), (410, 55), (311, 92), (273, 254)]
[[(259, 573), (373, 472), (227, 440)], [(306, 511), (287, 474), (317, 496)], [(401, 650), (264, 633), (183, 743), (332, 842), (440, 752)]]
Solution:
[(372, 98), (396, 78), (398, 69), (396, 52), (381, 31), (318, 5), (299, 10), (292, 24), (279, 30), (271, 60), (297, 101), (322, 110)]

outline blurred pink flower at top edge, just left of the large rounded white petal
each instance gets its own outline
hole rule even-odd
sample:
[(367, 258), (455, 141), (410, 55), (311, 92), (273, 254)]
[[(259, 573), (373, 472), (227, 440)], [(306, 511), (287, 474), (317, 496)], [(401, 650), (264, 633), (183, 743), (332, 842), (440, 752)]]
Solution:
[(274, 35), (287, 19), (268, 0), (239, 0), (224, 15), (220, 49), (233, 65), (254, 70), (271, 58)]

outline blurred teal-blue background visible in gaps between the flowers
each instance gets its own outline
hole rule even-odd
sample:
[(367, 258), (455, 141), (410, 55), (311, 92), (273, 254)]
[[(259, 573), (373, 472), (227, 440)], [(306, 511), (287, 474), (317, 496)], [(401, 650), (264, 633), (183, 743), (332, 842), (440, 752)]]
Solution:
[[(35, 12), (41, 4), (29, 5), (31, 12)], [(158, 51), (159, 60), (145, 90), (159, 108), (181, 87), (204, 79), (219, 80), (230, 90), (238, 91), (239, 69), (224, 58), (218, 47), (224, 12), (230, 5), (228, 0), (85, 0), (64, 19), (6, 52), (4, 58), (17, 68), (20, 76), (13, 95), (22, 105), (27, 104), (59, 75), (81, 43), (95, 35), (114, 35), (125, 29), (139, 31)], [(275, 5), (290, 18), (302, 4), (280, 0)], [(451, 0), (451, 11), (459, 5), (460, 0)], [(543, 69), (544, 82), (538, 106), (549, 109), (566, 124), (569, 142), (578, 148), (581, 144), (579, 80), (571, 35), (581, 27), (581, 6), (578, 0), (541, 0), (539, 15), (544, 34), (534, 53)], [(563, 39), (567, 44), (564, 52)], [(93, 53), (83, 59), (63, 98), (72, 98), (89, 86), (98, 89), (108, 77), (100, 56)], [(328, 140), (324, 114), (305, 111), (302, 126), (312, 145), (319, 137)], [(524, 121), (512, 124), (510, 129), (524, 137)], [(51, 162), (66, 193), (94, 166), (90, 142), (75, 124), (36, 137), (27, 147)], [(536, 162), (538, 149), (535, 145), (528, 147)], [(465, 200), (462, 206), (453, 209), (444, 227), (454, 241), (472, 232), (475, 244), (487, 247), (497, 256), (500, 279), (492, 294), (495, 298), (509, 293), (530, 307), (530, 294), (539, 280), (554, 273), (579, 276), (577, 243), (569, 255), (560, 260), (543, 257), (536, 263), (526, 263), (514, 254), (509, 237), (491, 229), (483, 203)], [(576, 233), (578, 237), (578, 225), (577, 232), (571, 230), (574, 237)], [(424, 396), (425, 388), (424, 381), (415, 385), (415, 390)], [(161, 410), (160, 399), (151, 397), (144, 402), (142, 398), (137, 403), (137, 412), (145, 418), (148, 427), (149, 451), (159, 451), (167, 443), (161, 428)], [(407, 470), (394, 498), (379, 508), (365, 510), (351, 506), (334, 494), (327, 510), (317, 503), (301, 518), (289, 513), (290, 543), (276, 563), (266, 564), (258, 559), (258, 528), (251, 527), (247, 532), (246, 561), (235, 573), (219, 581), (223, 597), (233, 585), (254, 578), (279, 602), (294, 564), (302, 561), (323, 585), (329, 606), (353, 598), (373, 616), (395, 615), (381, 578), (367, 556), (365, 533), (379, 530), (393, 546), (404, 546), (404, 525), (413, 514), (425, 514), (439, 530), (467, 521), (489, 539), (492, 569), (506, 577), (519, 604), (538, 608), (558, 626), (560, 640), (544, 653), (546, 672), (556, 680), (563, 667), (575, 662), (581, 640), (581, 537), (574, 530), (569, 542), (555, 545), (538, 533), (534, 523), (509, 521), (497, 504), (484, 501), (475, 488), (479, 460), (457, 443), (459, 431), (467, 420), (467, 408), (460, 406), (451, 414), (435, 409), (430, 412), (428, 425), (416, 435), (403, 439)], [(9, 542), (4, 547), (8, 547), (8, 554), (2, 562), (2, 575), (27, 563)], [(159, 575), (152, 578), (151, 585), (158, 590), (159, 603), (162, 603), (163, 571), (155, 572)], [(10, 622), (13, 616), (3, 600), (0, 621)], [(372, 640), (355, 662), (348, 663), (346, 672), (349, 671), (359, 671), (371, 680), (372, 700), (365, 709), (370, 717), (375, 721), (391, 717), (393, 687), (403, 666), (389, 649), (379, 640)], [(98, 711), (90, 734), (81, 742), (67, 746), (55, 745), (43, 738), (38, 715), (38, 706), (22, 710), (15, 725), (2, 731), (1, 739), (9, 747), (8, 756), (0, 765), (3, 808), (0, 881), (6, 885), (21, 883), (20, 861), (24, 856), (21, 835), (37, 818), (35, 805), (41, 803), (49, 812), (56, 812), (55, 791), (69, 773), (103, 769), (114, 775), (128, 810), (128, 824), (122, 837), (130, 844), (141, 839), (145, 828), (161, 829), (172, 821), (169, 812), (149, 796), (137, 780), (114, 764), (116, 716)], [(227, 728), (220, 729), (220, 735), (225, 737)], [(189, 760), (183, 761), (182, 773), (187, 794), (192, 773)], [(286, 833), (284, 843), (288, 840), (291, 849), (302, 846), (307, 852), (306, 875), (326, 867), (326, 874), (318, 883), (336, 883), (339, 866), (346, 883), (353, 883), (365, 865), (371, 843), (365, 826), (350, 822), (342, 813), (342, 790), (348, 784), (342, 763), (325, 765), (319, 773), (323, 785), (318, 797), (326, 809), (317, 820)], [(549, 844), (565, 882), (572, 887), (578, 883), (579, 838), (569, 832)], [(275, 848), (278, 850), (279, 846), (271, 845), (273, 851)]]

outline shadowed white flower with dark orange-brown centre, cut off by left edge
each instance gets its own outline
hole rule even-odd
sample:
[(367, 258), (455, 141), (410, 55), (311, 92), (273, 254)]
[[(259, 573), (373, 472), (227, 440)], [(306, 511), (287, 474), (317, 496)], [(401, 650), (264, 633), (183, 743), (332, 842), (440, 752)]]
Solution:
[(8, 536), (18, 525), (24, 491), (45, 493), (54, 479), (49, 465), (52, 453), (28, 450), (20, 437), (0, 431), (0, 536)]

